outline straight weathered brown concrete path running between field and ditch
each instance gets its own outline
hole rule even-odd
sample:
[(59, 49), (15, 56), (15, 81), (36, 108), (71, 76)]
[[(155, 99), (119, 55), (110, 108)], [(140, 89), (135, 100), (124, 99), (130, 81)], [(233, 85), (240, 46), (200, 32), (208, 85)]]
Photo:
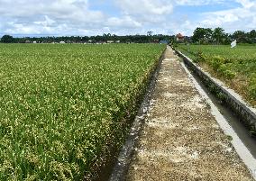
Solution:
[(126, 180), (253, 180), (168, 48)]

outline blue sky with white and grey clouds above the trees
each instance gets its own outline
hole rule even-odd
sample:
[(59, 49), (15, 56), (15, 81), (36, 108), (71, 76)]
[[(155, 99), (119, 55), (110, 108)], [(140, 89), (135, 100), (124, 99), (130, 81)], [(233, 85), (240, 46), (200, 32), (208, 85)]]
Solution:
[(256, 0), (0, 0), (0, 36), (192, 35), (256, 29)]

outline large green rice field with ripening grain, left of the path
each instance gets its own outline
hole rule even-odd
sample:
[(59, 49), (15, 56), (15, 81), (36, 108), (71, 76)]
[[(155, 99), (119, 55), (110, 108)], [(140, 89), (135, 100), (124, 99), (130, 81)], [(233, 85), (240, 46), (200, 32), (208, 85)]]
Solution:
[[(164, 49), (0, 44), (0, 180), (93, 175), (123, 144)], [(246, 62), (255, 70), (254, 60)]]

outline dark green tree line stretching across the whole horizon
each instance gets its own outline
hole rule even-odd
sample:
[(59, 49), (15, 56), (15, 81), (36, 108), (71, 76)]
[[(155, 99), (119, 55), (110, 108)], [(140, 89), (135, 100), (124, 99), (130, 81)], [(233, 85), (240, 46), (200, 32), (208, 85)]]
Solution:
[[(256, 43), (256, 31), (251, 32), (236, 31), (233, 33), (226, 33), (223, 28), (200, 28), (198, 27), (192, 37), (186, 37), (185, 42), (196, 44), (229, 44), (233, 40), (239, 43)], [(26, 43), (36, 41), (38, 43), (51, 43), (65, 41), (66, 43), (84, 43), (84, 42), (106, 42), (114, 41), (121, 43), (149, 43), (160, 41), (177, 41), (175, 35), (126, 35), (117, 36), (115, 34), (105, 33), (97, 36), (47, 36), (47, 37), (23, 37), (14, 38), (11, 35), (4, 35), (0, 42), (3, 43)], [(182, 41), (182, 42), (184, 42)]]

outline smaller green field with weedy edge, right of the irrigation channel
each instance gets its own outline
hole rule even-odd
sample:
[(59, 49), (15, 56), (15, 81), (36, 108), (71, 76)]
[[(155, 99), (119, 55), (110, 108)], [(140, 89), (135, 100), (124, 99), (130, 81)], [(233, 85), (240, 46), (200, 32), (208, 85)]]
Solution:
[(256, 46), (179, 45), (178, 50), (256, 106)]

